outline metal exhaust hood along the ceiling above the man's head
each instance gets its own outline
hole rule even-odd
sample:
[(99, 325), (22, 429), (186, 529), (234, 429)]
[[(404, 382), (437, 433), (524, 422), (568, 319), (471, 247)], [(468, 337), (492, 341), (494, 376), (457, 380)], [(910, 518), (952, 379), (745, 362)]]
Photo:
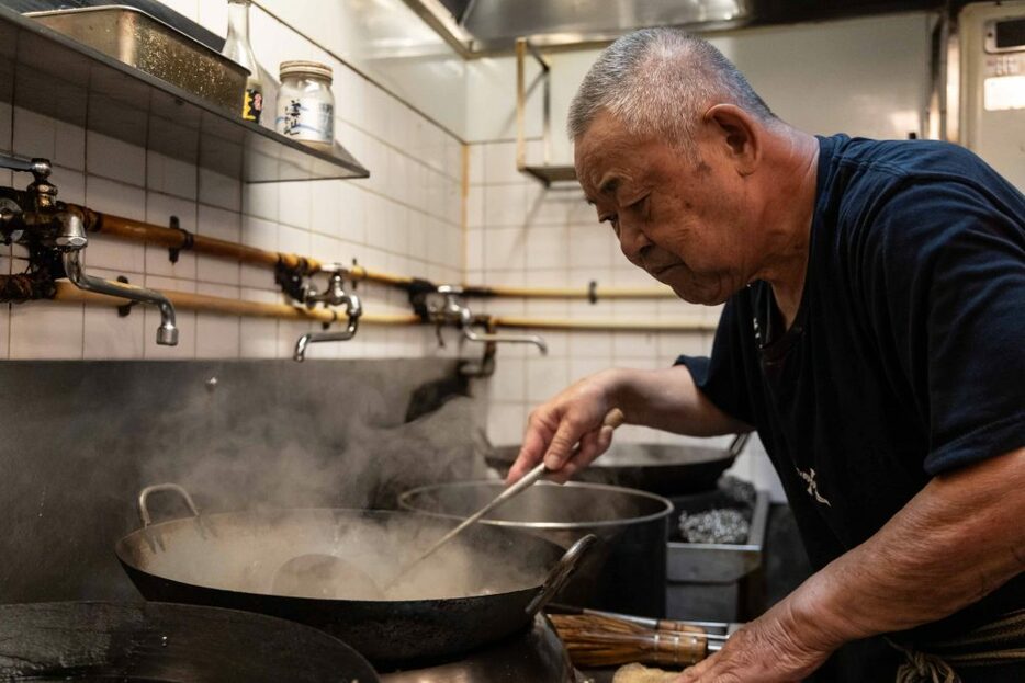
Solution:
[(462, 56), (605, 43), (646, 26), (695, 32), (882, 12), (935, 10), (944, 0), (405, 0)]

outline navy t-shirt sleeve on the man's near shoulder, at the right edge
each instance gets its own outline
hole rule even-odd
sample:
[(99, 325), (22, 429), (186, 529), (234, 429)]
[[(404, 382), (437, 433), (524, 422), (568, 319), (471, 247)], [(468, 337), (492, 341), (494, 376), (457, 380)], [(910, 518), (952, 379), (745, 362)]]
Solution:
[[(999, 179), (998, 179), (999, 180)], [(861, 284), (936, 475), (1025, 446), (1025, 198), (917, 181), (866, 230)]]

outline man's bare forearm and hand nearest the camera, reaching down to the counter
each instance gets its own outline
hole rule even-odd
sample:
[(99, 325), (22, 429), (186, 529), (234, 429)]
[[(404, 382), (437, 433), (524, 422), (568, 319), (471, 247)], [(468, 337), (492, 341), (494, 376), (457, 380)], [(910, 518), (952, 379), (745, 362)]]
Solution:
[(938, 475), (679, 681), (800, 681), (846, 642), (948, 616), (1025, 570), (1023, 520), (1025, 447)]

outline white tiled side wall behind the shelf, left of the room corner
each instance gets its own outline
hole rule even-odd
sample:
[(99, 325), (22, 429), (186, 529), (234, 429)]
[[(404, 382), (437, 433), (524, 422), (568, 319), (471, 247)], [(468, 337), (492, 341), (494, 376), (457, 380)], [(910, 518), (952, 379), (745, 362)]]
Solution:
[[(206, 2), (168, 1), (214, 31), (226, 14)], [(223, 4), (223, 3), (213, 3)], [(340, 4), (320, 8), (337, 13)], [(245, 184), (92, 130), (0, 104), (0, 149), (52, 159), (61, 200), (93, 209), (169, 225), (199, 235), (324, 262), (352, 260), (376, 270), (448, 282), (462, 278), (461, 143), (409, 106), (370, 83), (317, 46), (254, 7), (257, 58), (270, 72), (286, 58), (326, 59), (335, 71), (338, 139), (363, 161), (369, 181)], [(329, 46), (340, 52), (341, 46)], [(24, 178), (0, 175), (19, 185)], [(25, 266), (25, 252), (0, 251), (3, 272)], [(270, 269), (181, 252), (171, 263), (165, 248), (90, 236), (88, 272), (125, 275), (145, 286), (212, 296), (280, 303)], [(360, 286), (368, 312), (406, 311), (404, 293)], [(155, 344), (159, 316), (136, 306), (127, 317), (113, 307), (30, 303), (0, 307), (0, 358), (232, 358), (291, 357), (306, 322), (178, 311), (179, 344)], [(367, 340), (363, 335), (367, 335)], [(316, 344), (311, 357), (435, 355), (433, 330), (363, 325), (352, 342)], [(343, 348), (343, 349), (342, 349)], [(457, 345), (441, 351), (452, 355)]]

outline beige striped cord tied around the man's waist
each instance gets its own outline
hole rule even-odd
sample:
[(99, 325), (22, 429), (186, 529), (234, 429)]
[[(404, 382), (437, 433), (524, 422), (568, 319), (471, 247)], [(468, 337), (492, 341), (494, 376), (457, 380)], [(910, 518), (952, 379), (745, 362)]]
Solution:
[(896, 683), (961, 683), (955, 667), (1025, 662), (1025, 610), (921, 650), (886, 640), (905, 658), (897, 670)]

